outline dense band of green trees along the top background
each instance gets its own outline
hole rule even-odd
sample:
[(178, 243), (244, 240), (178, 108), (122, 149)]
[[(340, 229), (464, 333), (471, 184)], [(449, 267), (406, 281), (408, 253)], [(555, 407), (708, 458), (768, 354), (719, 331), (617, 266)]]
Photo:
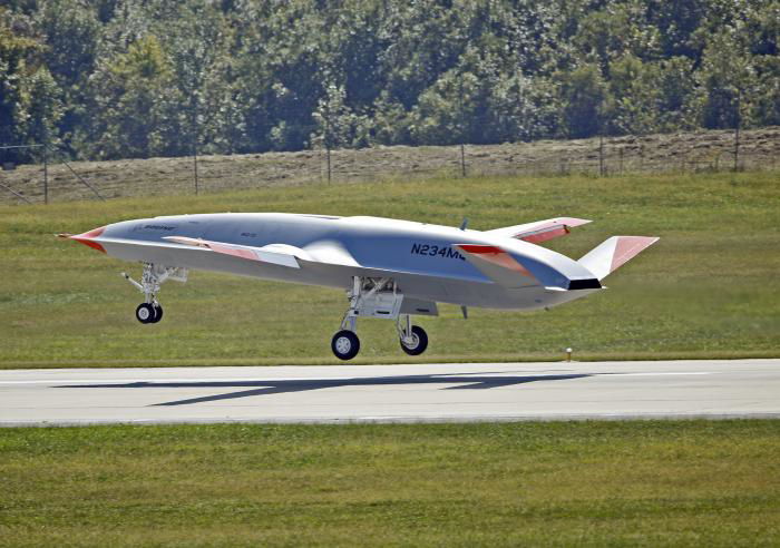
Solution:
[(779, 35), (776, 0), (6, 0), (0, 145), (115, 159), (780, 125)]

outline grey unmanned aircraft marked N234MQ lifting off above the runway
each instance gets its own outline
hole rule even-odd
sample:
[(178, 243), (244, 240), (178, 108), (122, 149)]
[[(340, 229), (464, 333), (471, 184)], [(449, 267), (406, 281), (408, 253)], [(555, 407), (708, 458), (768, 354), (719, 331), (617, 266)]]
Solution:
[(163, 319), (163, 282), (189, 270), (323, 285), (347, 291), (349, 309), (331, 341), (337, 358), (360, 351), (360, 317), (394, 320), (401, 349), (419, 355), (428, 335), (412, 315), (437, 303), (507, 310), (557, 306), (603, 290), (602, 280), (659, 238), (613, 236), (578, 261), (537, 244), (589, 223), (560, 217), (494, 231), (381, 217), (283, 213), (177, 215), (60, 234), (124, 261), (140, 262), (136, 319)]

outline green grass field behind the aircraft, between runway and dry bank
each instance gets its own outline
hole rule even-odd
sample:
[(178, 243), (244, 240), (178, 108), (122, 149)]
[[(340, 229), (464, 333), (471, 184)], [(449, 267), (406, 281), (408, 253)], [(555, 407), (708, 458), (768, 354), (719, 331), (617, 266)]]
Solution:
[(140, 325), (139, 267), (58, 232), (162, 214), (378, 215), (478, 229), (571, 215), (595, 222), (550, 247), (582, 256), (615, 235), (661, 241), (607, 278), (608, 291), (518, 313), (456, 306), (419, 321), (429, 351), (401, 353), (390, 322), (363, 321), (357, 363), (780, 354), (777, 173), (610, 178), (467, 178), (267, 188), (199, 197), (0, 207), (0, 368), (334, 363), (341, 292), (194, 272), (163, 286), (165, 320)]

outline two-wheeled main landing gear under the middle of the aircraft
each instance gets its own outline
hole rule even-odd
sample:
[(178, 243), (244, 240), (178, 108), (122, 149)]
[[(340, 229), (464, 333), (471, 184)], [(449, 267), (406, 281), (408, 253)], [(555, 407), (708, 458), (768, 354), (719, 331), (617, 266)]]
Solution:
[(391, 278), (352, 278), (352, 288), (347, 292), (350, 307), (341, 321), (341, 330), (333, 335), (331, 350), (340, 360), (351, 360), (360, 352), (358, 316), (396, 320), (401, 350), (409, 355), (420, 355), (428, 348), (428, 334), (419, 325), (411, 324), (410, 314), (401, 314), (403, 294)]

